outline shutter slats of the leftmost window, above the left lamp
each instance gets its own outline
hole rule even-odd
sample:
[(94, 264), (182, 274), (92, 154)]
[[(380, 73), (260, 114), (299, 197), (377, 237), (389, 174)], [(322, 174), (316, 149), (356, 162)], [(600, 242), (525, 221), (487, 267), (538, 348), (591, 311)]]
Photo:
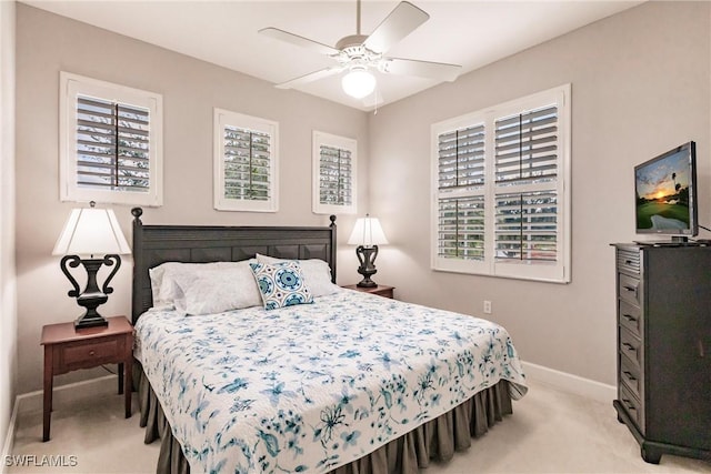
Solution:
[(77, 95), (77, 185), (150, 191), (150, 113), (142, 107)]

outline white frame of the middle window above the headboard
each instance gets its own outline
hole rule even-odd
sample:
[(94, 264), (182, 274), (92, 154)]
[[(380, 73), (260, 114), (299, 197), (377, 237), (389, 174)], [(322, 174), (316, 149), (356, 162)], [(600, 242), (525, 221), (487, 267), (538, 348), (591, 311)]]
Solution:
[[(269, 134), (269, 199), (224, 196), (224, 128), (234, 127)], [(279, 210), (279, 123), (224, 109), (213, 111), (213, 205), (218, 211), (277, 212)]]

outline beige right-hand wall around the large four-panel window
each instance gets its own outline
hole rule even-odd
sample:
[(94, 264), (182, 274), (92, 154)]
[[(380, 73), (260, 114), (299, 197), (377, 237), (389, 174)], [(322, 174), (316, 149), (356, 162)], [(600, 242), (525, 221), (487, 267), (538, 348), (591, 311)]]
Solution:
[[(382, 108), (369, 121), (372, 213), (393, 245), (378, 281), (429, 305), (482, 314), (535, 364), (614, 384), (614, 255), (635, 239), (633, 167), (688, 140), (711, 226), (708, 2), (649, 2)], [(430, 270), (430, 125), (572, 83), (572, 282)], [(707, 231), (702, 235), (709, 238)]]

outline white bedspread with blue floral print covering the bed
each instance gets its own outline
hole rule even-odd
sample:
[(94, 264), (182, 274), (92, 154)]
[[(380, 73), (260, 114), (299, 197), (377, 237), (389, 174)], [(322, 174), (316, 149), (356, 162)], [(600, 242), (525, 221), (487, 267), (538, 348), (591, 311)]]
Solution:
[(274, 311), (149, 311), (136, 331), (194, 473), (328, 472), (501, 379), (527, 391), (500, 325), (349, 290)]

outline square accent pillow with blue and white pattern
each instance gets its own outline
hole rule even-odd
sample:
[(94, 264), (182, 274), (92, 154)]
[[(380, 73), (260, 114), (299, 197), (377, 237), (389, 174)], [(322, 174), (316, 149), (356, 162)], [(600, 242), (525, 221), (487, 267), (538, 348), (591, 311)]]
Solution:
[(313, 303), (301, 266), (293, 261), (282, 263), (250, 263), (264, 310)]

